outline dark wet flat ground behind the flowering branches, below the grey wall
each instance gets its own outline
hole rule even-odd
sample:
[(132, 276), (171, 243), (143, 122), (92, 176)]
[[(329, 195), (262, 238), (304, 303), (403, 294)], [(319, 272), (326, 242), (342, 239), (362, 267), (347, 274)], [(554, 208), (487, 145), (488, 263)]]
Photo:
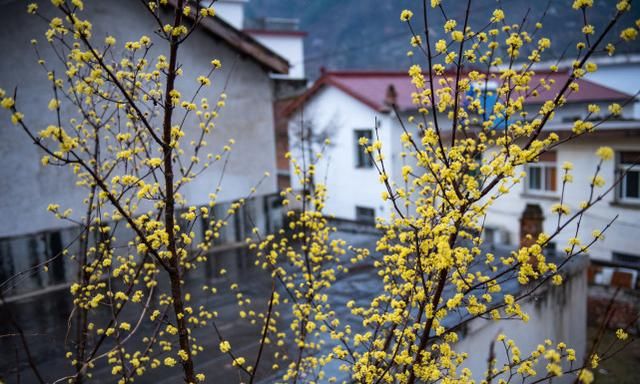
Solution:
[[(375, 237), (366, 234), (339, 233), (337, 237), (356, 247), (371, 249), (375, 243)], [(217, 271), (221, 268), (228, 271), (224, 278), (217, 276)], [(338, 317), (346, 320), (346, 323), (353, 324), (354, 327), (357, 327), (358, 320), (350, 314), (345, 304), (349, 300), (365, 303), (380, 292), (378, 280), (373, 273), (370, 268), (360, 266), (339, 277), (331, 288), (331, 304), (337, 311)], [(229, 250), (214, 255), (207, 265), (201, 266), (195, 273), (188, 276), (186, 285), (187, 290), (192, 294), (191, 306), (198, 308), (200, 305), (206, 305), (208, 308), (215, 308), (219, 313), (216, 324), (220, 332), (230, 340), (233, 352), (244, 356), (249, 364), (254, 361), (259, 347), (260, 325), (238, 321), (238, 305), (235, 299), (237, 291), (229, 291), (229, 285), (234, 282), (239, 284), (240, 292), (245, 297), (251, 298), (251, 309), (256, 313), (266, 312), (271, 280), (264, 271), (253, 267), (253, 256), (245, 249)], [(201, 289), (203, 285), (218, 288), (219, 294), (212, 296), (203, 293)], [(0, 306), (0, 380), (7, 383), (36, 382), (29, 369), (20, 338), (9, 321), (8, 310), (22, 327), (34, 361), (47, 382), (53, 382), (73, 373), (70, 362), (64, 356), (67, 351), (73, 349), (71, 342), (73, 335), (67, 335), (67, 323), (73, 310), (68, 289), (51, 290)], [(108, 316), (107, 313), (104, 315)], [(125, 320), (135, 321), (134, 315), (134, 313), (125, 314)], [(290, 315), (282, 314), (282, 321), (286, 321), (288, 316)], [(145, 326), (144, 323), (142, 326)], [(142, 328), (138, 334), (148, 335), (152, 332), (153, 329)], [(198, 345), (205, 348), (204, 353), (195, 357), (195, 363), (196, 370), (206, 375), (207, 382), (239, 382), (238, 370), (231, 366), (229, 357), (223, 355), (217, 348), (219, 340), (213, 328), (210, 326), (196, 328), (193, 335), (198, 340)], [(139, 341), (134, 339), (128, 342), (127, 350), (137, 349), (135, 343)], [(103, 350), (109, 347), (111, 345), (105, 345)], [(278, 375), (278, 372), (271, 369), (273, 364), (271, 358), (272, 354), (269, 351), (263, 353), (264, 360), (256, 376), (260, 382), (273, 382)], [(111, 368), (104, 360), (100, 360), (92, 370), (92, 382), (116, 381), (116, 376), (111, 375)], [(328, 367), (328, 369), (337, 372), (337, 366)], [(147, 371), (136, 382), (181, 383), (182, 377), (180, 369), (158, 368)]]

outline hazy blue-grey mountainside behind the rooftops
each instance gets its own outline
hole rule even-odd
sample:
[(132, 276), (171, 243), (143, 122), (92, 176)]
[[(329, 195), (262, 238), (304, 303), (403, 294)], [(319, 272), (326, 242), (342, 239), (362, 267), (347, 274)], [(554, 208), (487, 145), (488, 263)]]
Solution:
[[(544, 33), (552, 40), (552, 51), (547, 57), (559, 57), (565, 50), (575, 53), (575, 43), (581, 37), (582, 13), (571, 8), (572, 0), (473, 0), (471, 25), (475, 30), (486, 25), (491, 12), (502, 6), (510, 23), (519, 23), (527, 15), (533, 25), (547, 9), (543, 20)], [(589, 22), (596, 33), (604, 28), (617, 0), (595, 0), (589, 10)], [(250, 0), (247, 17), (298, 18), (300, 29), (309, 33), (305, 41), (305, 64), (309, 78), (314, 79), (321, 67), (330, 69), (396, 69), (410, 65), (406, 56), (410, 48), (410, 33), (400, 21), (403, 9), (413, 9), (416, 27), (420, 22), (419, 0)], [(427, 1), (427, 3), (430, 3)], [(464, 20), (466, 1), (444, 0), (447, 17), (458, 23)], [(529, 8), (531, 7), (531, 8)], [(443, 35), (442, 15), (429, 8), (431, 30)], [(622, 23), (611, 32), (617, 37), (624, 27), (640, 18), (640, 6), (634, 4)], [(640, 52), (640, 40), (625, 44), (623, 52)], [(555, 56), (555, 57), (554, 57)]]

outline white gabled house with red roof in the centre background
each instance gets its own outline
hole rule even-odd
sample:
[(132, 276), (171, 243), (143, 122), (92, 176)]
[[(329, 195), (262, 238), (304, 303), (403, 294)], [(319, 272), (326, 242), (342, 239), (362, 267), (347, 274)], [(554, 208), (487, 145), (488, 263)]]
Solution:
[[(404, 81), (408, 82), (406, 74), (400, 73), (326, 72), (289, 105), (289, 143), (294, 157), (301, 155), (302, 126), (317, 136), (316, 146), (321, 146), (325, 137), (333, 143), (318, 163), (316, 175), (328, 186), (326, 214), (365, 221), (389, 214), (381, 200), (384, 189), (378, 182), (378, 173), (358, 139), (374, 137), (375, 124), (385, 147), (390, 148), (388, 145), (399, 139), (394, 118), (383, 112), (383, 100), (389, 84)], [(300, 185), (293, 175), (291, 185)]]

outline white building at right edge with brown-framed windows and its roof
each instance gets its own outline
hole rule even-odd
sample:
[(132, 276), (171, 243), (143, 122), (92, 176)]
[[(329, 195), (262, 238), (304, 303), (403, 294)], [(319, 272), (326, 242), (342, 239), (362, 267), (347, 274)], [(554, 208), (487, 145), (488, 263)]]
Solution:
[[(611, 186), (624, 171), (628, 173), (612, 193), (585, 213), (580, 238), (583, 242), (590, 241), (592, 231), (603, 229), (617, 216), (604, 241), (594, 243), (589, 256), (638, 267), (640, 248), (635, 239), (640, 236), (640, 168), (629, 168), (640, 159), (640, 98), (637, 95), (640, 91), (640, 55), (596, 57), (593, 62), (598, 65), (598, 70), (587, 74), (583, 80), (590, 86), (581, 84), (580, 92), (573, 99), (569, 97), (568, 105), (558, 111), (554, 121), (545, 129), (557, 132), (561, 137), (568, 135), (573, 121), (585, 118), (588, 104), (599, 105), (602, 110), (600, 116), (603, 116), (610, 103), (626, 103), (622, 115), (600, 125), (593, 133), (561, 145), (555, 152), (543, 156), (537, 164), (529, 165), (524, 182), (498, 199), (490, 209), (485, 235), (488, 241), (517, 244), (519, 215), (527, 204), (537, 204), (542, 208), (546, 216), (544, 231), (552, 233), (557, 226), (557, 216), (551, 213), (551, 206), (560, 202), (563, 163), (568, 161), (574, 166), (571, 172), (574, 181), (566, 185), (564, 203), (571, 212), (576, 212), (580, 202), (588, 200), (589, 183), (600, 160), (595, 152), (601, 146), (609, 146), (614, 149), (615, 157), (602, 165), (599, 174), (606, 184), (596, 189), (596, 196)], [(559, 63), (560, 71), (570, 65), (570, 62)], [(544, 68), (544, 64), (541, 67)], [(530, 106), (531, 109), (537, 107), (539, 105)], [(573, 236), (572, 230), (562, 232), (552, 247), (562, 250)]]

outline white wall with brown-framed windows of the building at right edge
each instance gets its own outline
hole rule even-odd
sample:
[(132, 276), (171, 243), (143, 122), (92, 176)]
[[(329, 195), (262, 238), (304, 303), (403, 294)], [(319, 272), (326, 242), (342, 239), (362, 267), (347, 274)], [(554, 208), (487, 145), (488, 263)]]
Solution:
[[(579, 204), (588, 199), (589, 183), (593, 176), (599, 158), (595, 155), (600, 146), (610, 146), (615, 151), (638, 151), (640, 149), (640, 136), (627, 138), (606, 138), (606, 136), (591, 136), (573, 142), (563, 144), (557, 150), (558, 165), (558, 191), (554, 196), (536, 196), (525, 192), (524, 183), (516, 185), (509, 194), (500, 197), (489, 209), (486, 219), (486, 227), (507, 231), (512, 242), (517, 245), (519, 241), (519, 218), (527, 203), (539, 204), (545, 214), (544, 231), (554, 232), (557, 225), (557, 216), (551, 212), (551, 207), (560, 202), (561, 166), (565, 161), (574, 165), (572, 174), (574, 181), (567, 184), (565, 191), (565, 204), (571, 212), (579, 209)], [(606, 180), (603, 188), (596, 189), (602, 192), (611, 186), (615, 179), (615, 160), (606, 161), (600, 174)], [(597, 205), (592, 207), (582, 220), (580, 239), (586, 243), (592, 239), (592, 231), (600, 230), (612, 220), (615, 215), (618, 219), (605, 233), (604, 241), (596, 242), (589, 254), (596, 259), (610, 260), (611, 252), (623, 252), (640, 255), (637, 239), (640, 238), (640, 206), (623, 206), (615, 202), (615, 193), (611, 192)], [(571, 225), (564, 230), (556, 240), (557, 249), (562, 250), (569, 238), (574, 236), (575, 226)]]

